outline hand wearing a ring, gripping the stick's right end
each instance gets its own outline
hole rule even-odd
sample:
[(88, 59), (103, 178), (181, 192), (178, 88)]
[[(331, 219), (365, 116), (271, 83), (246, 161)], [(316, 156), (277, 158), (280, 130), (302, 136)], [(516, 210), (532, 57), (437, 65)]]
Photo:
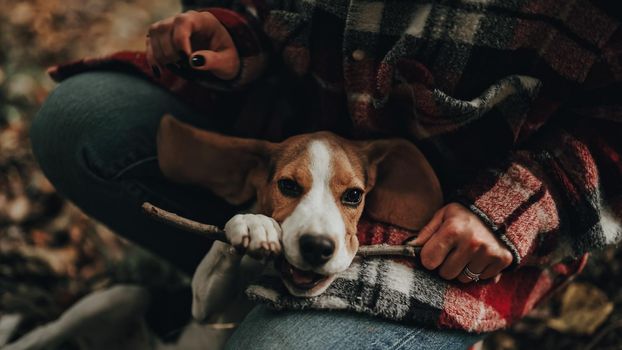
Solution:
[(420, 257), (425, 268), (439, 268), (442, 278), (463, 283), (477, 280), (468, 276), (469, 271), (480, 274), (479, 279), (496, 277), (513, 259), (490, 229), (458, 203), (439, 209), (409, 244), (423, 246)]

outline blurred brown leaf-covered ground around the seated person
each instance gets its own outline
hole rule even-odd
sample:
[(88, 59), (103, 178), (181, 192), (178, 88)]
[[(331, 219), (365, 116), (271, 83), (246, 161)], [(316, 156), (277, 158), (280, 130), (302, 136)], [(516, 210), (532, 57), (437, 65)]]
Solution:
[[(0, 0), (0, 324), (13, 337), (56, 318), (78, 298), (120, 281), (179, 281), (167, 266), (63, 201), (38, 169), (28, 128), (53, 82), (45, 67), (142, 49), (147, 26), (175, 0)], [(556, 294), (488, 349), (622, 349), (622, 252), (594, 256)], [(0, 346), (2, 345), (0, 327)]]

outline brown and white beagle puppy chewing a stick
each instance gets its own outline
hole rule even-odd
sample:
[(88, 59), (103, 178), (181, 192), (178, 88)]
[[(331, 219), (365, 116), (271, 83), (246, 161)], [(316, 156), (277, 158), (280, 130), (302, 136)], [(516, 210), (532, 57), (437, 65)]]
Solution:
[(7, 349), (55, 348), (67, 339), (83, 349), (220, 349), (233, 330), (213, 323), (235, 324), (252, 307), (242, 291), (264, 270), (255, 258), (276, 257), (292, 295), (316, 296), (350, 266), (363, 212), (418, 230), (442, 205), (434, 171), (406, 140), (352, 141), (317, 132), (271, 143), (165, 116), (157, 151), (160, 169), (172, 181), (205, 187), (232, 204), (256, 199), (254, 213), (225, 225), (235, 249), (214, 242), (193, 277), (192, 313), (208, 323), (188, 324), (176, 344), (154, 341), (143, 319), (147, 290), (115, 286), (86, 296)]

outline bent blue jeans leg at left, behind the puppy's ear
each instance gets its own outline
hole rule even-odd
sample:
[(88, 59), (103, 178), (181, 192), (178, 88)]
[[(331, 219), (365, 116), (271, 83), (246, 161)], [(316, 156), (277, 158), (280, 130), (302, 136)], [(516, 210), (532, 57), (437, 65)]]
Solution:
[(207, 116), (140, 77), (85, 73), (52, 92), (30, 136), (35, 157), (60, 193), (125, 238), (191, 274), (211, 242), (146, 217), (142, 202), (219, 225), (236, 208), (207, 191), (162, 176), (155, 136), (165, 113), (210, 128)]

